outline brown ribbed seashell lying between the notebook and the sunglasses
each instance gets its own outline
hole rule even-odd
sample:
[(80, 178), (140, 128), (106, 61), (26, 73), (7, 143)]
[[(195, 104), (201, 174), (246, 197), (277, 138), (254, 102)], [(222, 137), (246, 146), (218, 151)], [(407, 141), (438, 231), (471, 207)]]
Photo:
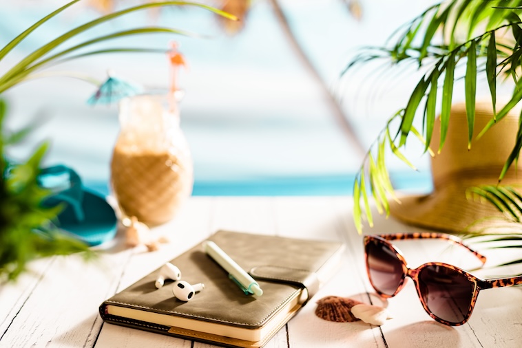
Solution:
[(352, 307), (361, 305), (362, 302), (352, 298), (339, 296), (326, 296), (317, 301), (315, 315), (319, 318), (337, 323), (347, 323), (359, 320), (351, 312)]

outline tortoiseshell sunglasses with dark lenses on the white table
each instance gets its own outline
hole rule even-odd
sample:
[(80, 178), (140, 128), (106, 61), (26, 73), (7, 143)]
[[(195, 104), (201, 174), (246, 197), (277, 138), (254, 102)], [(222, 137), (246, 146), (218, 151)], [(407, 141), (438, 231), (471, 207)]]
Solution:
[(486, 257), (466, 246), (461, 239), (443, 233), (398, 233), (364, 237), (366, 271), (375, 291), (382, 297), (395, 296), (406, 276), (413, 279), (426, 312), (439, 323), (458, 326), (468, 321), (480, 290), (522, 284), (522, 276), (480, 279), (447, 263), (428, 262), (409, 268), (399, 249), (389, 241), (404, 239), (446, 239), (472, 252), (482, 264)]

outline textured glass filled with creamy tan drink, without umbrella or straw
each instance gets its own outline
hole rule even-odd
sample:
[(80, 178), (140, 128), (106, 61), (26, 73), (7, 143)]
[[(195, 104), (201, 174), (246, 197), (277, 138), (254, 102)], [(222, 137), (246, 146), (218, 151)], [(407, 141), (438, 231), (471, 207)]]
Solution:
[(194, 184), (176, 103), (165, 94), (125, 98), (111, 160), (112, 191), (125, 217), (149, 225), (172, 219)]

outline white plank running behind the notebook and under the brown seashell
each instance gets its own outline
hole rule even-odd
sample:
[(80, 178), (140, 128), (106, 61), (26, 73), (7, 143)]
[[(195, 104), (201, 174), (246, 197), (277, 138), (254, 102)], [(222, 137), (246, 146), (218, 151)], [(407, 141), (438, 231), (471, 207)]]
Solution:
[[(344, 241), (348, 201), (328, 197), (288, 197), (278, 199), (280, 235)], [(342, 270), (326, 283), (289, 324), (290, 347), (384, 347), (381, 333), (370, 325), (333, 323), (315, 316), (317, 300), (324, 296), (341, 296), (364, 301), (366, 291), (358, 281), (353, 252), (347, 246)]]

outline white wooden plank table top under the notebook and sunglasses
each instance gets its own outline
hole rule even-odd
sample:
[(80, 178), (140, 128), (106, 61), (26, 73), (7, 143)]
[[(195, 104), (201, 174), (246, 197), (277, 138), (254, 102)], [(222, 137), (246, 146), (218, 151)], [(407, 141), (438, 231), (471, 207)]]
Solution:
[[(105, 248), (95, 262), (84, 263), (74, 255), (32, 263), (32, 274), (24, 274), (16, 284), (0, 289), (0, 347), (211, 347), (103, 323), (98, 305), (218, 229), (346, 243), (342, 270), (266, 347), (521, 346), (520, 287), (481, 292), (472, 317), (461, 327), (432, 320), (421, 307), (412, 281), (384, 303), (393, 319), (382, 327), (317, 318), (315, 301), (323, 296), (381, 303), (366, 277), (362, 237), (353, 227), (351, 206), (349, 197), (192, 197), (174, 221), (154, 230), (171, 240), (156, 252), (124, 248), (119, 234), (114, 245)], [(365, 232), (414, 230), (391, 218), (377, 217), (376, 226)], [(397, 246), (411, 266), (427, 261), (477, 265), (466, 251), (446, 248), (437, 241), (399, 241)], [(508, 257), (499, 250), (484, 252), (490, 257), (489, 264)], [(481, 270), (476, 274), (494, 276), (495, 272), (502, 275), (514, 270)]]

